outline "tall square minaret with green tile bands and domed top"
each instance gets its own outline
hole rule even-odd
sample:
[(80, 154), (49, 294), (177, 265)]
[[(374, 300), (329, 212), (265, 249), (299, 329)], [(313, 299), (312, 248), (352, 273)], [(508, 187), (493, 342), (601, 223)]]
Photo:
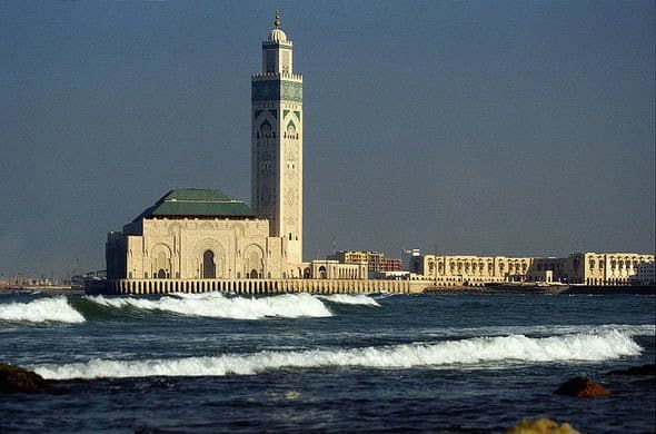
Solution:
[(262, 71), (251, 78), (252, 207), (286, 240), (288, 264), (302, 262), (302, 76), (292, 70), (292, 43), (280, 29), (262, 41)]

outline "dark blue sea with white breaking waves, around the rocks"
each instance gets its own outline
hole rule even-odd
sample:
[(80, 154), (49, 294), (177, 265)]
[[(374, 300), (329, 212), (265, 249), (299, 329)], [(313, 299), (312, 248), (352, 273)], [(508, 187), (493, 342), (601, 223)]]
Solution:
[[(653, 295), (0, 293), (0, 432), (654, 433)], [(555, 394), (575, 376), (610, 395)]]

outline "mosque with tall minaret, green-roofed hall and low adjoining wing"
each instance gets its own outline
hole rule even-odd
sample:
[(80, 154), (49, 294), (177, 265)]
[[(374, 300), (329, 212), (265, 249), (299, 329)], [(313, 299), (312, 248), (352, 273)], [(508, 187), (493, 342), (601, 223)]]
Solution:
[(302, 76), (294, 72), (292, 55), (276, 13), (262, 41), (261, 72), (251, 77), (252, 208), (219, 190), (170, 190), (122, 231), (108, 234), (113, 292), (267, 290), (287, 287), (276, 279), (367, 279), (366, 264), (302, 260)]

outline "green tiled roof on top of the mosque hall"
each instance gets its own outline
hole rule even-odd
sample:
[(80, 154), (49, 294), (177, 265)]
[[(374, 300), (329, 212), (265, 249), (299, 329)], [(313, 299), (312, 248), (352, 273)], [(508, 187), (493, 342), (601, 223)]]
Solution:
[(241, 200), (230, 199), (219, 190), (182, 188), (170, 190), (135, 220), (151, 217), (255, 217)]

